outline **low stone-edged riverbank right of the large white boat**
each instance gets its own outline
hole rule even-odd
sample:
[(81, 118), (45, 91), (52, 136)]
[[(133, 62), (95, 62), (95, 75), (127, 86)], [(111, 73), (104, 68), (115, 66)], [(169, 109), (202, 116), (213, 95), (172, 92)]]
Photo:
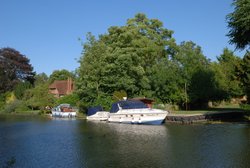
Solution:
[(192, 124), (197, 122), (250, 122), (249, 112), (246, 111), (218, 111), (203, 114), (170, 113), (165, 122)]

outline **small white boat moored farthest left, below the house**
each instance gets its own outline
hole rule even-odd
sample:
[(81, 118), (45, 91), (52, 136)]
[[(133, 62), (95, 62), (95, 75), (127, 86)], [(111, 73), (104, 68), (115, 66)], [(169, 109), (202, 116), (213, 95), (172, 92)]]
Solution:
[(53, 117), (76, 117), (76, 110), (70, 104), (60, 104), (54, 107), (51, 112)]

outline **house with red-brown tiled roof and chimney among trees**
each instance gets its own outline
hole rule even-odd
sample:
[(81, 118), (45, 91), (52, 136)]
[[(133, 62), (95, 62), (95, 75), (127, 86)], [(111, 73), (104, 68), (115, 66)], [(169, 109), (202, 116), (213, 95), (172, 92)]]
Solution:
[(74, 83), (71, 78), (68, 78), (67, 80), (55, 80), (49, 86), (49, 92), (57, 98), (69, 95), (73, 91), (74, 91)]

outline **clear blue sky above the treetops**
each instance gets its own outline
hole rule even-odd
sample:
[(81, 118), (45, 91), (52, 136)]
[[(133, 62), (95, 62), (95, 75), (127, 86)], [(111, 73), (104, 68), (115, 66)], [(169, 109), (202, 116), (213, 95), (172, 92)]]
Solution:
[[(216, 60), (228, 43), (226, 15), (232, 0), (1, 0), (0, 48), (11, 47), (30, 59), (34, 71), (74, 71), (80, 65), (82, 42), (111, 26), (144, 13), (173, 30), (177, 44), (193, 41)], [(81, 40), (79, 40), (81, 39)], [(242, 57), (243, 51), (236, 51)]]

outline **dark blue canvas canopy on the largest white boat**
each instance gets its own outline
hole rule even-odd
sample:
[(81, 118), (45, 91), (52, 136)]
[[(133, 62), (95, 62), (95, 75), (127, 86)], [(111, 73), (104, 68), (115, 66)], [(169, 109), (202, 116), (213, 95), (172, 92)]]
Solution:
[(119, 101), (112, 104), (111, 113), (115, 113), (119, 111), (119, 107), (122, 109), (141, 109), (141, 108), (148, 108), (146, 104), (139, 100), (126, 100), (126, 101)]

